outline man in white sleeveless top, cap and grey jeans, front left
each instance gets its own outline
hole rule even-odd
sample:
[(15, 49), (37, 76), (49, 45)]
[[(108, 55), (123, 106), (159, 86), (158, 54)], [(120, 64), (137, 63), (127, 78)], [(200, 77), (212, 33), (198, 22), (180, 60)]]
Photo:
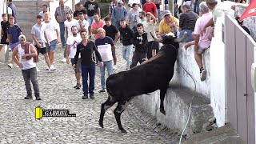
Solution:
[[(36, 100), (41, 100), (39, 94), (39, 86), (37, 80), (37, 69), (36, 64), (34, 63), (35, 56), (38, 55), (37, 51), (35, 50), (32, 44), (29, 45), (28, 54), (25, 54), (25, 46), (26, 46), (26, 37), (25, 35), (20, 35), (18, 37), (18, 49), (15, 49), (12, 54), (12, 58), (14, 58), (14, 62), (22, 69), (22, 75), (25, 81), (26, 86), (26, 97), (25, 99), (32, 99), (32, 90), (30, 86), (30, 81), (33, 84), (34, 88), (34, 95)], [(15, 57), (16, 54), (19, 54), (20, 61)]]

